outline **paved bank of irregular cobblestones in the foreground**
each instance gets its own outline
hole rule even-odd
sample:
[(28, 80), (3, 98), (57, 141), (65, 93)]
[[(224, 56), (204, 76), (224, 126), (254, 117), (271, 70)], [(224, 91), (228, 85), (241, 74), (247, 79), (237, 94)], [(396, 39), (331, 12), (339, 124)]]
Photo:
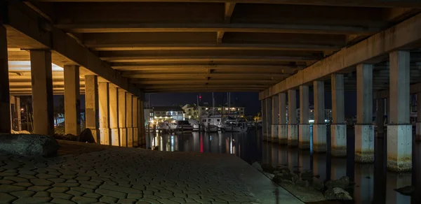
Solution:
[(53, 158), (0, 152), (0, 203), (260, 203), (236, 156), (59, 143)]

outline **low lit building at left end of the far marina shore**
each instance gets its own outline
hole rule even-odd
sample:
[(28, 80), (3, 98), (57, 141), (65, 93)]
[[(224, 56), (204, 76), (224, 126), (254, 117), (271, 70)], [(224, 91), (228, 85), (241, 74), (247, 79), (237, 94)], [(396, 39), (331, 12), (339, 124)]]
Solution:
[(180, 106), (154, 106), (150, 109), (149, 116), (156, 122), (185, 120), (185, 112)]

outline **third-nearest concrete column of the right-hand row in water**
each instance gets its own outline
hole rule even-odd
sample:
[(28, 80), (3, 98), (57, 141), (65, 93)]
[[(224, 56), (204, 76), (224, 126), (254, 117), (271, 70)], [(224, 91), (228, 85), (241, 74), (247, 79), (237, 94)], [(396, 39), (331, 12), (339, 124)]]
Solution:
[(332, 80), (332, 122), (330, 141), (332, 156), (347, 156), (347, 124), (345, 123), (344, 75), (333, 74)]

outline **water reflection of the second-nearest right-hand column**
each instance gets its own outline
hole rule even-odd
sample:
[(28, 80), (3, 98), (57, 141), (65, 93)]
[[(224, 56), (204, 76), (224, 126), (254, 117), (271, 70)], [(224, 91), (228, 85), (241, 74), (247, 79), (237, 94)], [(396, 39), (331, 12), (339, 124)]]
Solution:
[(356, 203), (372, 203), (374, 193), (373, 164), (355, 164), (354, 200)]

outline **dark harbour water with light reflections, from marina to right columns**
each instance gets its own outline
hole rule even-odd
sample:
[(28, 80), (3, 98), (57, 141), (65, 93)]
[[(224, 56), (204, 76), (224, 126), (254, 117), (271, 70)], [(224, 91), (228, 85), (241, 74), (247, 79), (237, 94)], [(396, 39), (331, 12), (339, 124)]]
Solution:
[[(318, 180), (327, 181), (348, 176), (355, 182), (355, 203), (421, 204), (421, 144), (413, 144), (413, 170), (392, 173), (386, 170), (387, 138), (375, 138), (375, 163), (354, 163), (354, 129), (347, 131), (347, 158), (332, 158), (330, 154), (313, 154), (311, 150), (288, 148), (262, 141), (261, 131), (247, 133), (192, 133), (147, 137), (148, 147), (161, 151), (211, 152), (235, 154), (248, 163), (259, 161), (272, 166), (288, 166), (291, 170), (313, 170)], [(330, 135), (328, 133), (328, 146)], [(412, 185), (413, 196), (404, 196), (394, 189)]]

